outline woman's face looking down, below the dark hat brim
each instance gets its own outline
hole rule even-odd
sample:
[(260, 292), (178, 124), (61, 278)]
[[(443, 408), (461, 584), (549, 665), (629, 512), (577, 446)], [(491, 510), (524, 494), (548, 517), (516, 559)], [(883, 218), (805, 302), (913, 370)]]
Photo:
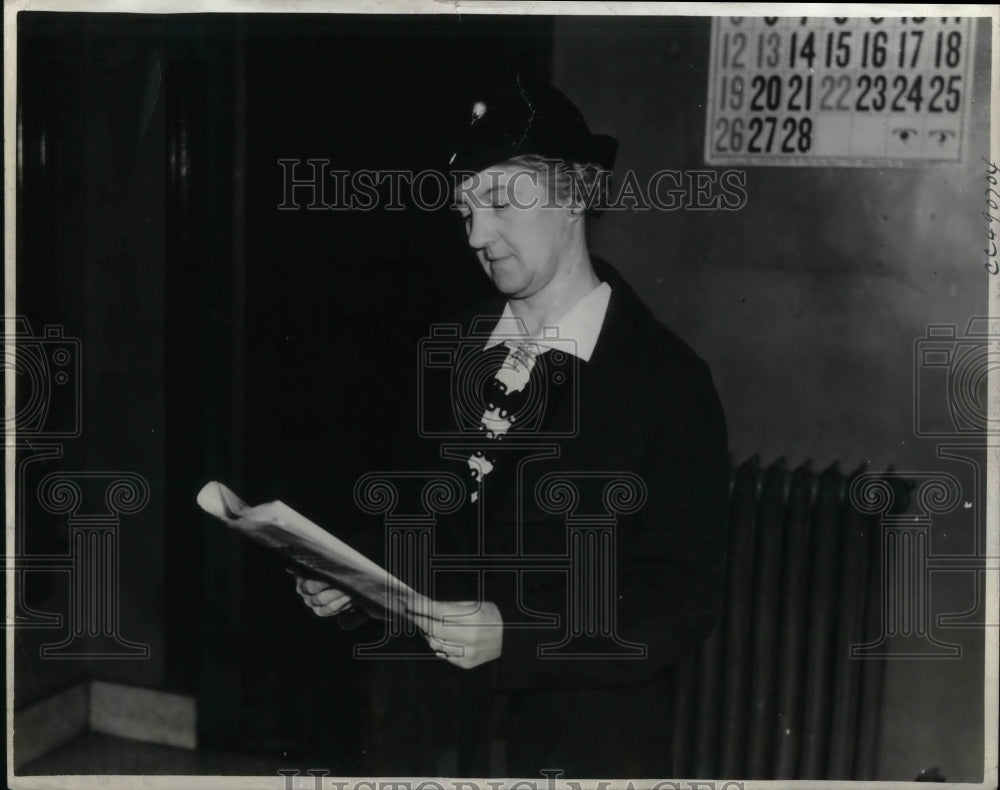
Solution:
[(552, 281), (578, 219), (550, 196), (545, 174), (517, 166), (466, 178), (457, 209), (483, 270), (511, 299), (532, 296)]

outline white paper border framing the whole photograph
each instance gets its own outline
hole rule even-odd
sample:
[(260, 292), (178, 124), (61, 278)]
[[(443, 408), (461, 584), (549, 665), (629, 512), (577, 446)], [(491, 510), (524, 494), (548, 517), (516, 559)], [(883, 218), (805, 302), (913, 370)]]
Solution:
[[(181, 14), (202, 12), (229, 13), (366, 13), (366, 14), (510, 14), (510, 15), (742, 15), (742, 16), (914, 16), (922, 13), (925, 16), (987, 16), (991, 17), (992, 36), (992, 93), (991, 93), (991, 128), (990, 155), (994, 162), (1000, 161), (1000, 123), (997, 119), (997, 108), (1000, 107), (1000, 8), (990, 5), (902, 5), (902, 4), (862, 4), (862, 3), (761, 3), (748, 8), (744, 3), (587, 3), (587, 2), (517, 2), (515, 0), (481, 0), (480, 2), (461, 2), (460, 0), (4, 0), (4, 315), (16, 315), (16, 283), (15, 274), (15, 194), (16, 194), (16, 86), (17, 86), (17, 42), (16, 16), (20, 11), (88, 11), (100, 13), (132, 12), (140, 14)], [(990, 318), (1000, 316), (1000, 275), (991, 280)], [(991, 356), (993, 369), (990, 373), (989, 389), (991, 396), (1000, 393), (1000, 349), (993, 349)], [(4, 417), (9, 422), (14, 416), (14, 385), (15, 374), (12, 365), (4, 368)], [(991, 401), (992, 403), (992, 401)], [(6, 494), (6, 535), (7, 555), (13, 554), (14, 540), (14, 483), (15, 457), (13, 442), (5, 436), (5, 494)], [(987, 462), (987, 556), (1000, 557), (1000, 461), (991, 454)], [(8, 571), (10, 568), (8, 567)], [(998, 569), (986, 571), (986, 617), (987, 622), (996, 623), (1000, 617), (1000, 578)], [(7, 622), (13, 622), (13, 574), (6, 574), (7, 582)], [(984, 695), (984, 781), (982, 784), (949, 783), (952, 788), (996, 788), (998, 783), (998, 741), (997, 727), (1000, 721), (998, 710), (998, 693), (1000, 693), (1000, 629), (987, 627), (985, 635), (985, 695)], [(14, 688), (14, 650), (13, 640), (8, 633), (7, 647), (7, 779), (15, 788), (133, 788), (137, 785), (143, 788), (233, 788), (250, 790), (250, 788), (279, 788), (284, 790), (284, 777), (220, 777), (220, 776), (13, 776), (13, 688)], [(296, 788), (312, 790), (314, 783), (311, 777), (304, 776), (306, 781), (295, 784)], [(329, 777), (327, 778), (330, 779)], [(345, 778), (349, 782), (367, 782), (367, 778)], [(432, 781), (438, 781), (428, 777)], [(375, 780), (377, 781), (377, 780)], [(414, 783), (422, 781), (414, 778)], [(461, 781), (474, 782), (474, 779)], [(479, 780), (481, 787), (486, 788), (485, 779)], [(496, 780), (493, 780), (494, 782)], [(544, 781), (535, 779), (538, 785), (544, 786)], [(685, 780), (675, 780), (684, 786)], [(705, 781), (705, 780), (701, 780)], [(738, 780), (733, 780), (738, 781)], [(453, 787), (442, 780), (446, 788)], [(597, 781), (579, 782), (581, 787), (597, 787)], [(654, 781), (629, 782), (622, 780), (604, 785), (605, 788), (652, 787)], [(722, 788), (725, 780), (717, 780), (717, 788)], [(555, 787), (568, 787), (564, 781), (555, 782)], [(329, 781), (323, 787), (332, 787)], [(576, 783), (574, 783), (576, 786)], [(693, 786), (697, 787), (697, 784)], [(377, 787), (377, 785), (376, 785)], [(923, 790), (927, 787), (922, 782), (843, 782), (843, 781), (753, 781), (744, 780), (743, 787), (748, 790), (779, 790), (779, 788), (828, 788), (829, 790), (857, 790), (860, 787), (895, 788), (897, 790)], [(362, 785), (364, 790), (372, 790), (369, 784)]]

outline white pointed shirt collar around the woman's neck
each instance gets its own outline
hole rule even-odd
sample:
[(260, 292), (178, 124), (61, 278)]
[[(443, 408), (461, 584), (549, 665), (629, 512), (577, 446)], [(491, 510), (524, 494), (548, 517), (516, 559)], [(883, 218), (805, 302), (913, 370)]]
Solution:
[(493, 329), (493, 334), (486, 341), (484, 350), (500, 343), (514, 348), (520, 343), (530, 342), (540, 346), (538, 349), (540, 354), (549, 349), (558, 349), (589, 362), (594, 353), (594, 346), (597, 345), (597, 338), (601, 334), (601, 327), (604, 325), (604, 315), (608, 311), (610, 298), (611, 286), (606, 282), (601, 283), (573, 305), (555, 324), (542, 327), (541, 332), (534, 337), (528, 335), (524, 320), (514, 315), (508, 302)]

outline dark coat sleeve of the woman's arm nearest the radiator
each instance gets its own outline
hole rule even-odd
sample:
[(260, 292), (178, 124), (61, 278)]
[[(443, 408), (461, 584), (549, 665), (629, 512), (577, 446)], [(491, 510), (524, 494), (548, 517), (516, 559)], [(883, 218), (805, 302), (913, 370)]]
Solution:
[[(661, 360), (637, 404), (644, 433), (639, 474), (645, 505), (616, 527), (617, 631), (644, 658), (541, 657), (553, 631), (504, 628), (493, 667), (500, 688), (583, 688), (641, 683), (695, 649), (715, 628), (725, 585), (729, 456), (725, 418), (707, 366), (691, 355)], [(636, 384), (637, 382), (632, 382)], [(638, 388), (630, 387), (634, 393)], [(639, 415), (645, 415), (640, 417)], [(647, 423), (648, 424), (645, 424)], [(565, 591), (538, 593), (539, 608), (565, 608)], [(501, 614), (513, 600), (495, 602)], [(565, 632), (565, 625), (561, 629)], [(584, 640), (581, 640), (581, 644)]]

